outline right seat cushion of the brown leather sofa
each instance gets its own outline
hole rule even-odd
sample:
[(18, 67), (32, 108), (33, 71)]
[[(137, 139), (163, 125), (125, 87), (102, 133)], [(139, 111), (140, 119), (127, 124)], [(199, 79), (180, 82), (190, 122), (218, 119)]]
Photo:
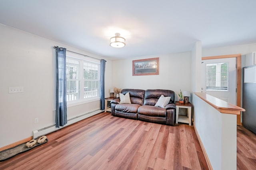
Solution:
[(143, 105), (138, 108), (138, 113), (148, 116), (166, 117), (166, 109), (156, 106)]

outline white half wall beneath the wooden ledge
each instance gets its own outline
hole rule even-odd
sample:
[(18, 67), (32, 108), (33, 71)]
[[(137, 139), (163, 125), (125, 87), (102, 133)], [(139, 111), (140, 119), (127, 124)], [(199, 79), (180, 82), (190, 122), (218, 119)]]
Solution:
[(193, 94), (194, 126), (214, 170), (236, 169), (236, 115), (220, 113)]

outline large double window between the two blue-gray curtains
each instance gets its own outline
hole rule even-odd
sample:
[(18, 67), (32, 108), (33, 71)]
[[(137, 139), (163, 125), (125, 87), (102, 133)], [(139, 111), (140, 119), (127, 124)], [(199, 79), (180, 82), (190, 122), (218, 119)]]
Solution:
[(66, 77), (68, 103), (100, 97), (100, 63), (67, 53)]

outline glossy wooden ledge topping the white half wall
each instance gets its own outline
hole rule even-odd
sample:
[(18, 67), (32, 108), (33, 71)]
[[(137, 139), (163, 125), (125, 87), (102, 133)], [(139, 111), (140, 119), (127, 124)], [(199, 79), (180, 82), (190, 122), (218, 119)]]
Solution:
[(209, 94), (203, 93), (203, 92), (194, 92), (196, 96), (204, 100), (206, 103), (208, 103), (210, 106), (214, 107), (216, 110), (218, 110), (220, 113), (228, 113), (228, 114), (234, 114), (234, 115), (240, 115), (241, 111), (245, 111), (245, 109), (235, 106), (233, 104), (230, 104), (228, 102), (225, 102), (223, 100), (220, 100), (219, 98), (216, 98), (214, 96), (211, 96)]

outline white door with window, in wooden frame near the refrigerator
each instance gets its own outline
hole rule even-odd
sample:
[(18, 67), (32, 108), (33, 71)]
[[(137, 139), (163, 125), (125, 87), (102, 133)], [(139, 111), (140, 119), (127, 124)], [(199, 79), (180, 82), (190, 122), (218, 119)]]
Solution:
[(236, 58), (202, 60), (201, 89), (236, 105)]

